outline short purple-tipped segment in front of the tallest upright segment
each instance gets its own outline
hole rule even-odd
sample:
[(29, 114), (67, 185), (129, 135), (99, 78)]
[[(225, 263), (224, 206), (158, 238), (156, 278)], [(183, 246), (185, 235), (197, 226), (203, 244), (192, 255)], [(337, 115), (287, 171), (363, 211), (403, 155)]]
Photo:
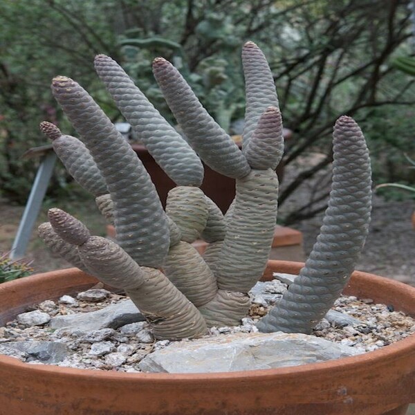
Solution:
[(275, 170), (283, 154), (281, 113), (276, 107), (268, 107), (259, 118), (257, 128), (246, 145), (246, 160), (252, 169)]

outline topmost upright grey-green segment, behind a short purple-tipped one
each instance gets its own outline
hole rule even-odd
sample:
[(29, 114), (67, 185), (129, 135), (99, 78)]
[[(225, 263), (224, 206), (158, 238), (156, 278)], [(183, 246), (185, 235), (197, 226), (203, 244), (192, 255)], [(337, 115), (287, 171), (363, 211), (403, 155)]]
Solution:
[(245, 75), (246, 110), (243, 127), (243, 151), (257, 128), (259, 118), (268, 107), (279, 107), (277, 91), (270, 66), (262, 50), (254, 42), (242, 48), (243, 75)]

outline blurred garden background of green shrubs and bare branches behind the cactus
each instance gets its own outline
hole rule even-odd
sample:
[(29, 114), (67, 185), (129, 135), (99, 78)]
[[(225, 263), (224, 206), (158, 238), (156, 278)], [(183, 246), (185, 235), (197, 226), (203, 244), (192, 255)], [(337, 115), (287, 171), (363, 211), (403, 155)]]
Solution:
[[(0, 2), (0, 250), (12, 246), (47, 144), (39, 122), (76, 135), (50, 80), (77, 80), (114, 122), (118, 109), (93, 71), (98, 53), (116, 59), (156, 108), (174, 119), (151, 74), (163, 56), (181, 71), (217, 122), (241, 133), (241, 46), (264, 51), (273, 71), (286, 140), (278, 222), (304, 234), (309, 252), (326, 208), (335, 120), (356, 119), (367, 138), (374, 184), (415, 185), (415, 10), (412, 0), (3, 0)], [(408, 159), (409, 158), (409, 159)], [(415, 284), (415, 192), (376, 192), (360, 268)], [(97, 234), (105, 223), (92, 197), (57, 165), (39, 222), (62, 207)], [(35, 233), (35, 232), (34, 232)], [(33, 235), (35, 270), (64, 266)]]

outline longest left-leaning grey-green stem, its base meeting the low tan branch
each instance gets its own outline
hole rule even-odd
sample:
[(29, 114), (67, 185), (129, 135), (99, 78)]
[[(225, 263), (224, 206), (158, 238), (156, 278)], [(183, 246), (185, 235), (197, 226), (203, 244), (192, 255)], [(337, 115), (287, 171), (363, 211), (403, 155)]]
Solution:
[(55, 77), (52, 90), (105, 178), (114, 203), (118, 243), (138, 264), (160, 266), (169, 249), (169, 229), (149, 174), (79, 84)]

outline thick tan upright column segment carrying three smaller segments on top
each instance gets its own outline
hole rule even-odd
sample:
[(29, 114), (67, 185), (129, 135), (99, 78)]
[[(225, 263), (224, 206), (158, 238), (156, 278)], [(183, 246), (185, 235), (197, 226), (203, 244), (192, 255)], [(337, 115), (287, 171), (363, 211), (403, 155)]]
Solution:
[(218, 286), (248, 293), (261, 278), (273, 242), (278, 179), (271, 170), (252, 170), (237, 180), (234, 210), (219, 264)]

